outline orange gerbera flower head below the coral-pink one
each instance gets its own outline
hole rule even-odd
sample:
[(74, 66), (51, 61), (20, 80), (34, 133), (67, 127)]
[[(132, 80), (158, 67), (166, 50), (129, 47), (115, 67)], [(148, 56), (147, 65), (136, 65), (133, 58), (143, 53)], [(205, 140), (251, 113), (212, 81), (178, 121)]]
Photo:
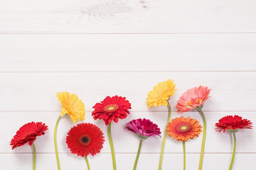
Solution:
[(199, 121), (196, 119), (186, 119), (181, 116), (180, 118), (176, 117), (172, 119), (172, 122), (168, 123), (166, 128), (167, 134), (177, 141), (188, 141), (188, 139), (193, 139), (193, 137), (198, 137), (202, 126), (199, 124)]

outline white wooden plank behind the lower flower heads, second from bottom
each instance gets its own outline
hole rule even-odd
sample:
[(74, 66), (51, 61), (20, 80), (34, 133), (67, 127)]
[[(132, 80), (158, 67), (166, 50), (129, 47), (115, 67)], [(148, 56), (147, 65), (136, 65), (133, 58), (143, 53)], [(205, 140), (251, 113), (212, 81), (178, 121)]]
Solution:
[[(207, 120), (207, 137), (205, 144), (205, 152), (206, 153), (231, 153), (233, 150), (233, 137), (229, 132), (216, 132), (215, 124), (222, 117), (227, 115), (239, 115), (243, 117), (243, 119), (249, 119), (253, 123), (256, 122), (256, 115), (254, 112), (204, 112), (206, 120)], [(0, 145), (3, 146), (1, 148), (0, 153), (30, 153), (31, 146), (26, 144), (25, 146), (15, 148), (11, 150), (11, 146), (9, 145), (11, 139), (16, 134), (16, 131), (24, 124), (34, 121), (34, 122), (43, 122), (48, 127), (49, 130), (45, 132), (45, 135), (37, 137), (35, 141), (35, 145), (37, 146), (37, 152), (39, 153), (52, 153), (54, 152), (54, 128), (56, 121), (60, 115), (59, 112), (29, 112), (29, 113), (0, 113), (2, 115), (3, 120), (11, 120), (11, 121), (1, 121), (0, 128), (5, 129), (8, 127), (8, 130), (2, 130), (0, 132), (1, 136), (4, 136), (3, 139), (0, 140)], [(136, 153), (139, 146), (139, 139), (137, 136), (125, 130), (124, 127), (126, 123), (131, 121), (132, 119), (150, 119), (153, 123), (157, 124), (162, 132), (161, 137), (163, 137), (164, 130), (166, 127), (168, 113), (166, 112), (134, 112), (131, 111), (130, 115), (126, 117), (126, 119), (119, 120), (118, 123), (113, 123), (111, 126), (111, 134), (113, 143), (115, 146), (116, 153)], [(189, 117), (193, 119), (197, 119), (202, 124), (202, 118), (200, 114), (187, 112), (178, 115), (173, 112), (171, 119), (175, 119), (175, 117)], [(104, 136), (105, 142), (103, 144), (103, 149), (101, 153), (110, 153), (110, 144), (108, 141), (108, 128), (102, 120), (94, 120), (90, 112), (85, 114), (84, 121), (78, 121), (78, 123), (82, 122), (90, 122), (92, 124), (97, 125), (101, 128)], [(57, 143), (58, 150), (60, 153), (69, 153), (69, 149), (67, 148), (67, 144), (65, 143), (65, 139), (67, 136), (67, 132), (76, 126), (75, 123), (70, 119), (69, 116), (65, 115), (61, 118), (61, 121), (58, 125), (57, 131)], [(253, 147), (253, 144), (256, 143), (256, 135), (255, 129), (242, 129), (236, 133), (237, 138), (237, 147), (236, 152), (238, 153), (256, 153), (256, 148)], [(161, 150), (162, 139), (160, 137), (150, 137), (143, 142), (143, 146), (141, 148), (141, 153), (159, 153)], [(186, 142), (186, 152), (187, 153), (200, 153), (202, 144), (202, 134), (199, 135), (198, 138), (194, 138), (193, 140), (189, 140)], [(182, 142), (173, 139), (172, 137), (167, 137), (166, 145), (164, 149), (165, 153), (182, 153)]]

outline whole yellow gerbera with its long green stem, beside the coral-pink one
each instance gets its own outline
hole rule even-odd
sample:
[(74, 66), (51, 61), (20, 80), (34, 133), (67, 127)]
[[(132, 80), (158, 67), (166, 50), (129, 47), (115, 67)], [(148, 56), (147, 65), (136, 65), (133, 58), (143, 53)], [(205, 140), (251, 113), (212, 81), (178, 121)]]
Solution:
[[(174, 84), (173, 79), (168, 79), (166, 82), (158, 83), (157, 86), (153, 87), (153, 91), (150, 91), (148, 93), (148, 97), (146, 98), (146, 104), (148, 105), (148, 108), (151, 106), (160, 106), (161, 104), (163, 106), (168, 106), (168, 118), (167, 123), (171, 119), (171, 105), (169, 103), (169, 99), (171, 96), (174, 95), (175, 91), (177, 89), (174, 89), (176, 84)], [(162, 159), (164, 154), (164, 145), (166, 140), (166, 130), (164, 131), (164, 137), (162, 141), (162, 147), (160, 152), (160, 159), (159, 159), (159, 167), (158, 169), (161, 170), (162, 168)]]

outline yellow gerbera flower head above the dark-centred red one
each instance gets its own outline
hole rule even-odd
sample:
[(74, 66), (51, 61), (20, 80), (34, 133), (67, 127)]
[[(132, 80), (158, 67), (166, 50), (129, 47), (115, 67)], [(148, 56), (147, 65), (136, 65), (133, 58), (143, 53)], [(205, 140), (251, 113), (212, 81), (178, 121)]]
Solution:
[(72, 121), (77, 123), (77, 119), (85, 119), (85, 106), (81, 99), (78, 99), (77, 95), (61, 92), (57, 93), (56, 97), (61, 101), (61, 117), (65, 114), (70, 115)]

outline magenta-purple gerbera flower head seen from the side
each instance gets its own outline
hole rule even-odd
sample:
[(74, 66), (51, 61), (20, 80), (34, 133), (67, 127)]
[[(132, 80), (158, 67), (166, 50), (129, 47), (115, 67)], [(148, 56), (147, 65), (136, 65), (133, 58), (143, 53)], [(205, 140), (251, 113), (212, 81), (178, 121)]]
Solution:
[(153, 124), (152, 121), (148, 119), (133, 119), (129, 123), (126, 124), (125, 129), (130, 130), (137, 134), (139, 139), (148, 139), (150, 136), (155, 136), (161, 134), (160, 128), (158, 128), (157, 124)]

